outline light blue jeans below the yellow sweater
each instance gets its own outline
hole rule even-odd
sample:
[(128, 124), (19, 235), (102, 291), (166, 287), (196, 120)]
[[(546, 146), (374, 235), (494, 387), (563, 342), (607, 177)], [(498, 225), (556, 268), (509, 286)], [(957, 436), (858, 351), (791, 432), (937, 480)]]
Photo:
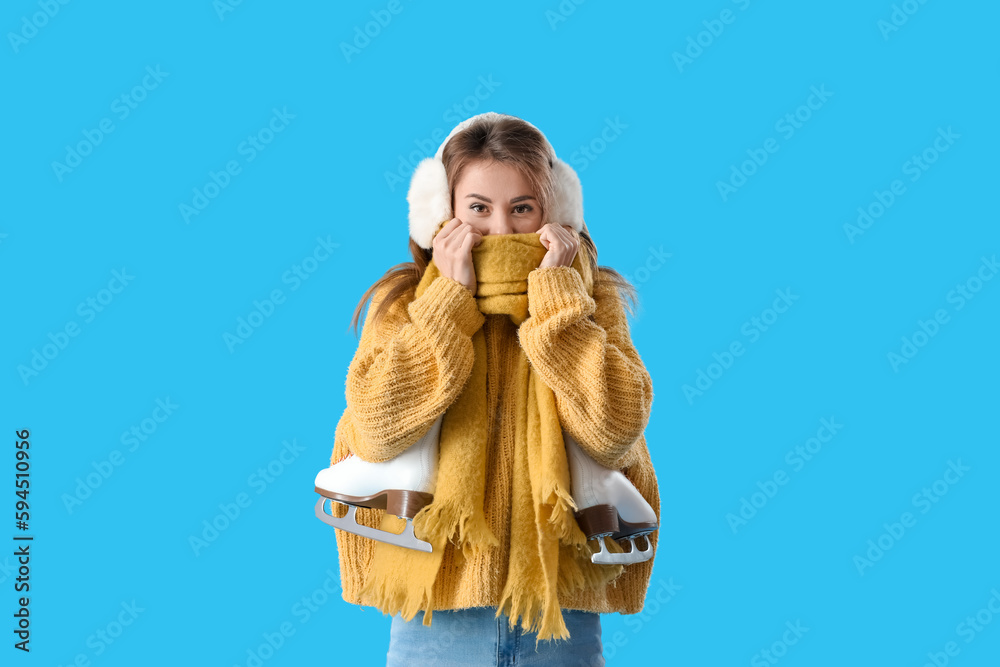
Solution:
[(535, 633), (510, 630), (507, 616), (495, 614), (496, 607), (435, 611), (430, 626), (423, 612), (409, 622), (393, 616), (386, 667), (604, 665), (600, 614), (563, 609), (570, 638), (539, 642), (537, 653)]

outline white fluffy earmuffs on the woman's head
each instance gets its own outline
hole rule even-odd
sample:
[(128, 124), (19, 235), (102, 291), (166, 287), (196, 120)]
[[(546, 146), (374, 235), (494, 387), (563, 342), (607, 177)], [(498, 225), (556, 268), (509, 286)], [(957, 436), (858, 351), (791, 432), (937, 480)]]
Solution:
[[(445, 137), (434, 157), (424, 158), (417, 165), (410, 179), (410, 190), (406, 194), (406, 201), (410, 205), (410, 238), (416, 241), (421, 248), (430, 249), (438, 226), (443, 221), (454, 217), (451, 210), (451, 191), (448, 188), (448, 177), (445, 174), (444, 163), (441, 161), (441, 155), (448, 140), (457, 132), (468, 127), (477, 118), (493, 120), (503, 117), (510, 116), (487, 111), (467, 118), (456, 125)], [(535, 126), (532, 125), (532, 127)], [(541, 131), (539, 130), (539, 132)], [(542, 136), (545, 135), (542, 134)], [(552, 203), (547, 216), (548, 221), (568, 225), (580, 232), (584, 229), (583, 188), (580, 186), (580, 178), (572, 167), (556, 157), (555, 150), (549, 144), (548, 139), (545, 140), (545, 143), (552, 157), (554, 185)]]

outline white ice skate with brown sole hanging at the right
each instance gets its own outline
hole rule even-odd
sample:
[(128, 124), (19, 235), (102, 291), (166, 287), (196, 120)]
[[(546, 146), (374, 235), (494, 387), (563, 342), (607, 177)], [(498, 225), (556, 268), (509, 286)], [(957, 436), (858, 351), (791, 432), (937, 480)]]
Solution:
[[(596, 539), (601, 545), (600, 552), (590, 560), (607, 565), (627, 565), (652, 558), (653, 545), (647, 536), (659, 527), (653, 508), (625, 475), (598, 464), (565, 430), (563, 440), (569, 459), (573, 500), (580, 508), (576, 512), (576, 521), (588, 540)], [(632, 550), (611, 553), (604, 544), (605, 536), (628, 540)], [(644, 550), (636, 546), (638, 537), (646, 543)]]

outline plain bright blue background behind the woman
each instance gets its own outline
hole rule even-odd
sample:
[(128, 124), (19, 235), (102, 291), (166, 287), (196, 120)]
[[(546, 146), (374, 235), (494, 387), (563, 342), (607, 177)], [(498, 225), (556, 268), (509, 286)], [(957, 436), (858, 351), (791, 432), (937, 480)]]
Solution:
[[(639, 289), (663, 522), (643, 614), (603, 617), (609, 664), (773, 664), (764, 650), (789, 667), (997, 664), (1000, 280), (977, 279), (1000, 250), (1000, 9), (664, 5), (6, 3), (2, 421), (8, 442), (31, 430), (35, 541), (30, 655), (11, 648), (16, 575), (0, 557), (3, 663), (247, 665), (288, 624), (263, 664), (384, 664), (389, 619), (340, 599), (312, 482), (344, 408), (354, 308), (409, 260), (412, 168), (432, 136), (491, 110), (577, 169), (599, 262)], [(391, 20), (365, 44), (371, 12)], [(144, 77), (123, 117), (115, 100)], [(293, 117), (251, 153), (275, 109)], [(102, 119), (113, 131), (54, 168)], [(620, 131), (602, 144), (608, 122)], [(239, 173), (186, 219), (229, 161)], [(897, 179), (903, 194), (849, 234)], [(295, 283), (318, 239), (336, 249)], [(114, 271), (131, 278), (102, 292)], [(978, 291), (959, 301), (959, 286)], [(283, 303), (227, 346), (276, 289)], [(774, 317), (779, 290), (795, 298)], [(921, 321), (935, 335), (914, 336)], [(734, 342), (743, 354), (712, 366)], [(711, 384), (686, 394), (700, 371)], [(842, 426), (793, 464), (822, 419)], [(130, 450), (122, 434), (143, 420)], [(967, 470), (946, 475), (949, 461)], [(67, 504), (88, 475), (99, 486)], [(249, 505), (193, 548), (241, 493)], [(757, 507), (734, 523), (743, 499)], [(962, 625), (977, 613), (978, 630)], [(796, 623), (801, 637), (783, 634)]]

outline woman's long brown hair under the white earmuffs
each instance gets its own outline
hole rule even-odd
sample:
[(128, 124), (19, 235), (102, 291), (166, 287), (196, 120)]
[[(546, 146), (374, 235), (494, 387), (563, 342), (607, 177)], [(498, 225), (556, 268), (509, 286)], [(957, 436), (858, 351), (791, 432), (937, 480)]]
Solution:
[[(455, 184), (469, 163), (476, 160), (504, 162), (521, 172), (535, 191), (542, 209), (542, 224), (545, 224), (553, 197), (552, 158), (545, 137), (520, 118), (507, 116), (473, 121), (468, 127), (455, 133), (441, 154), (451, 190), (452, 211), (455, 210)], [(586, 247), (587, 255), (590, 257), (595, 289), (602, 284), (613, 285), (623, 297), (626, 308), (634, 314), (634, 304), (638, 301), (635, 287), (611, 267), (597, 266), (597, 247), (587, 231), (586, 224), (580, 231), (580, 243)], [(411, 238), (410, 255), (413, 256), (412, 262), (393, 266), (362, 295), (351, 320), (355, 336), (358, 335), (361, 312), (372, 295), (378, 294), (385, 287), (388, 288), (372, 317), (371, 326), (378, 326), (397, 299), (416, 289), (431, 261), (433, 248), (421, 248)], [(597, 269), (600, 269), (600, 273)]]

